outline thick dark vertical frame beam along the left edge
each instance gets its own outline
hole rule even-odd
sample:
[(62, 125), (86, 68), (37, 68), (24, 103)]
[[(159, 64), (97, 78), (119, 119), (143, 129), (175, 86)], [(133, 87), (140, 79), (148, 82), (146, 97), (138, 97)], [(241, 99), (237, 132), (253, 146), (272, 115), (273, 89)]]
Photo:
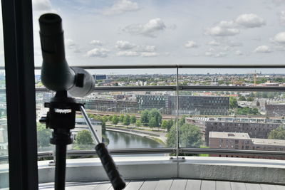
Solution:
[(1, 0), (10, 190), (38, 189), (31, 0)]

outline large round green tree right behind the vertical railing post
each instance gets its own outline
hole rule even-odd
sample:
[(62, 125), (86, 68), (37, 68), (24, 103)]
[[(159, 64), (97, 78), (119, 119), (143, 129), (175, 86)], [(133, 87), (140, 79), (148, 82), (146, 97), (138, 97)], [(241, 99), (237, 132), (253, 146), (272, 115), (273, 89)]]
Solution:
[[(202, 136), (199, 127), (185, 123), (180, 126), (179, 139), (181, 147), (200, 147), (202, 145)], [(176, 126), (173, 125), (168, 132), (167, 146), (176, 146)]]

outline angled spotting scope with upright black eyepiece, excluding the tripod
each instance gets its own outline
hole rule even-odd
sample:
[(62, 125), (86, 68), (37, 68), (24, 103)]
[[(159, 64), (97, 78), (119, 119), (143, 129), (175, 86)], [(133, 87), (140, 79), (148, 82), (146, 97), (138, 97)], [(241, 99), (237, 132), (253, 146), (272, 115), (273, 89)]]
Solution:
[(67, 90), (73, 96), (83, 97), (92, 93), (95, 80), (86, 70), (68, 66), (61, 22), (57, 14), (43, 14), (39, 19), (43, 55), (41, 81), (49, 90)]

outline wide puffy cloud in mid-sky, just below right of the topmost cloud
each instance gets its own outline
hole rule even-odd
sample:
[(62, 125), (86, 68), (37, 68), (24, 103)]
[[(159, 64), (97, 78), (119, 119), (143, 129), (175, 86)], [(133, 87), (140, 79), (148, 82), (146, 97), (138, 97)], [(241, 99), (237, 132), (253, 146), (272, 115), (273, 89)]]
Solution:
[(151, 19), (145, 24), (132, 24), (123, 29), (132, 35), (141, 35), (150, 38), (157, 37), (157, 32), (164, 31), (166, 28), (165, 23), (162, 19)]

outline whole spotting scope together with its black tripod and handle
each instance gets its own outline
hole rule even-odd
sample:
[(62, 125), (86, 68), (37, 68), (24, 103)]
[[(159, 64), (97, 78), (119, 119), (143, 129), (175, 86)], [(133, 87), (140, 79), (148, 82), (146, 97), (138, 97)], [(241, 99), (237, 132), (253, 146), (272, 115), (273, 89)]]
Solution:
[(46, 88), (56, 91), (56, 96), (51, 98), (51, 102), (45, 103), (45, 107), (49, 107), (47, 117), (40, 120), (46, 123), (46, 127), (53, 129), (51, 144), (56, 144), (55, 189), (65, 189), (66, 145), (73, 142), (71, 130), (75, 127), (76, 111), (81, 111), (97, 142), (95, 150), (113, 188), (121, 190), (125, 188), (125, 181), (120, 176), (105, 144), (100, 142), (93, 130), (83, 105), (68, 97), (68, 93), (78, 97), (90, 94), (93, 92), (95, 80), (86, 70), (68, 66), (61, 22), (61, 17), (56, 14), (43, 14), (39, 19), (43, 54), (41, 81)]

